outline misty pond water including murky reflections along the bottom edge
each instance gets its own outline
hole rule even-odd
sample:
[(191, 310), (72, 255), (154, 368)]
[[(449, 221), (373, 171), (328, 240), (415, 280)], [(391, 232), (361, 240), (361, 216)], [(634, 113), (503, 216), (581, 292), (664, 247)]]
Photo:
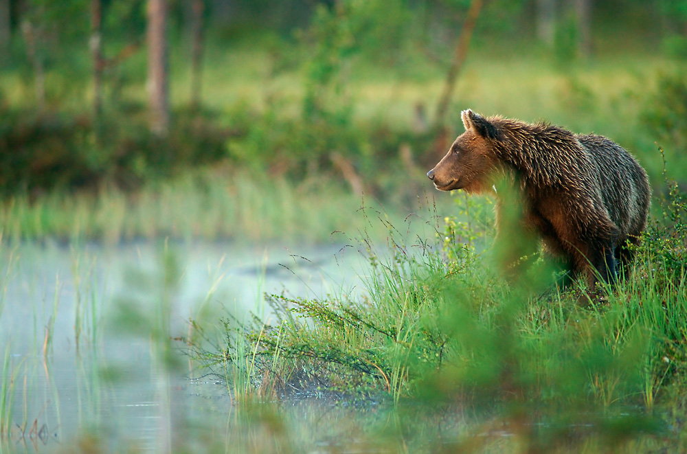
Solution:
[[(363, 293), (367, 269), (341, 245), (0, 245), (0, 454), (461, 451), (456, 440), (504, 452), (560, 429), (460, 401), (387, 411), (375, 396), (359, 405), (319, 389), (242, 406), (223, 370), (183, 354), (189, 319), (221, 346), (222, 317), (270, 321), (263, 293)], [(570, 433), (603, 427), (589, 420)]]

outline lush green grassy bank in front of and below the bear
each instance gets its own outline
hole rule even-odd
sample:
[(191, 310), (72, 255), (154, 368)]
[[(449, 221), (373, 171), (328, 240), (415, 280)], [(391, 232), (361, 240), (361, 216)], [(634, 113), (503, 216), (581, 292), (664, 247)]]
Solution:
[[(682, 219), (687, 204), (671, 193), (663, 207)], [(455, 225), (447, 233), (435, 224), (434, 238), (407, 244), (385, 224), (386, 258), (363, 240), (363, 295), (271, 295), (273, 317), (227, 322), (227, 343), (210, 360), (246, 365), (243, 394), (258, 383), (316, 383), (348, 400), (412, 408), (413, 420), (469, 409), (467, 427), (444, 434), (455, 449), (498, 430), (513, 435), (508, 450), (685, 449), (684, 403), (673, 397), (687, 387), (687, 262), (675, 256), (683, 224), (655, 222), (624, 279), (591, 293), (587, 308), (578, 304), (585, 288), (561, 291), (545, 260), (504, 280), (491, 271), (490, 248), (445, 241)]]

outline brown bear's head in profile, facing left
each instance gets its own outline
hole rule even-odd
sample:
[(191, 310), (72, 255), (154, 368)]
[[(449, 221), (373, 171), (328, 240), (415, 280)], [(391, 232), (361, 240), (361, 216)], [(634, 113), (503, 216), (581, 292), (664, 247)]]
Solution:
[(499, 129), (470, 109), (462, 111), (465, 132), (458, 136), (446, 156), (427, 172), (440, 191), (462, 189), (466, 192), (484, 192), (491, 189), (491, 177), (499, 166), (494, 142)]

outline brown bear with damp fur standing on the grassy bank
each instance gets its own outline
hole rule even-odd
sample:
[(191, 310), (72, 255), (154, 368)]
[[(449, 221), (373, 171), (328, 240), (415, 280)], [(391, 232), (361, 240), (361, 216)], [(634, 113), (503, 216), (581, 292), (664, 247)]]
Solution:
[[(501, 235), (507, 185), (521, 205), (523, 231), (536, 231), (590, 288), (597, 277), (612, 284), (631, 259), (646, 226), (651, 188), (626, 150), (599, 135), (575, 134), (550, 124), (462, 112), (465, 132), (427, 172), (438, 190), (496, 192)], [(510, 183), (509, 183), (510, 182)], [(508, 202), (512, 203), (512, 202)]]

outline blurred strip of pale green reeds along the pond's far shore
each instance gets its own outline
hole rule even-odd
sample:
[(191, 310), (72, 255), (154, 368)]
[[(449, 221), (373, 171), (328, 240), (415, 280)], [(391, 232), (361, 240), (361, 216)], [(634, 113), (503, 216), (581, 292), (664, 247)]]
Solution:
[[(379, 207), (374, 198), (327, 181), (293, 184), (199, 171), (135, 193), (103, 188), (96, 194), (54, 192), (36, 201), (10, 196), (0, 203), (0, 231), (10, 243), (170, 238), (315, 244), (330, 242), (336, 230), (363, 229), (355, 215), (361, 205)], [(407, 215), (403, 205), (394, 211), (399, 222)]]

